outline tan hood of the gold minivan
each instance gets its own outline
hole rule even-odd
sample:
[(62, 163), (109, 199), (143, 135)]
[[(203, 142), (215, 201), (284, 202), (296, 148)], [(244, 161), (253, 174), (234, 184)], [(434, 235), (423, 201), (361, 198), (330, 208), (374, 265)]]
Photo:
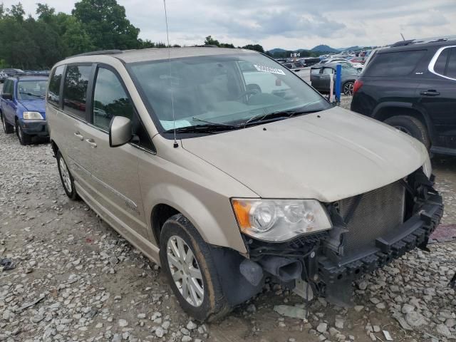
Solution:
[(338, 107), (185, 139), (182, 147), (259, 197), (321, 202), (388, 185), (417, 170), (427, 158), (418, 140)]

